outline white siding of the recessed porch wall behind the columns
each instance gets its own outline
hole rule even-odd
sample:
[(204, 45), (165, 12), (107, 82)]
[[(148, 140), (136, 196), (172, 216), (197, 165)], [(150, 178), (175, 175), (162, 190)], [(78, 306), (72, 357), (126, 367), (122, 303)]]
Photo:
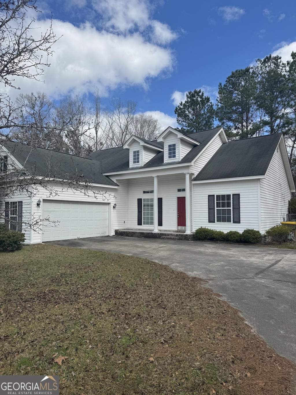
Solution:
[[(185, 188), (185, 174), (165, 175), (158, 177), (158, 198), (163, 201), (163, 226), (159, 229), (177, 229), (177, 197), (185, 196), (185, 192), (177, 192), (178, 188)], [(128, 228), (153, 229), (153, 225), (138, 226), (137, 199), (153, 198), (154, 194), (143, 194), (143, 190), (153, 190), (153, 177), (129, 179)]]

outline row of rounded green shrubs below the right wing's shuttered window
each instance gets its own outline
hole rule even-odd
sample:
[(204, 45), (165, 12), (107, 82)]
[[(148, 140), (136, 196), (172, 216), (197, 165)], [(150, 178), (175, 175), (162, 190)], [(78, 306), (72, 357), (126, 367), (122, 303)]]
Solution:
[(232, 243), (259, 243), (261, 240), (259, 230), (245, 229), (242, 233), (230, 230), (224, 233), (221, 230), (199, 228), (195, 231), (196, 240), (231, 241)]

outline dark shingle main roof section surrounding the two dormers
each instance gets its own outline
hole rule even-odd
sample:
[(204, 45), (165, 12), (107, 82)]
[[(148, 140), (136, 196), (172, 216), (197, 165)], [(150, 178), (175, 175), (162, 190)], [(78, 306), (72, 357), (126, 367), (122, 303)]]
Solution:
[[(212, 138), (221, 130), (219, 128), (205, 130), (204, 132), (197, 132), (187, 134), (186, 136), (200, 143), (193, 147), (187, 155), (179, 162), (163, 163), (163, 152), (158, 152), (149, 162), (141, 167), (129, 168), (129, 150), (122, 147), (111, 148), (107, 150), (96, 151), (90, 154), (89, 158), (101, 161), (103, 173), (115, 173), (116, 171), (128, 171), (135, 169), (147, 169), (152, 167), (164, 167), (173, 164), (190, 163), (199, 154), (202, 149), (212, 140)], [(150, 145), (157, 143), (155, 141), (148, 141)], [(163, 147), (163, 143), (157, 143), (159, 147)]]

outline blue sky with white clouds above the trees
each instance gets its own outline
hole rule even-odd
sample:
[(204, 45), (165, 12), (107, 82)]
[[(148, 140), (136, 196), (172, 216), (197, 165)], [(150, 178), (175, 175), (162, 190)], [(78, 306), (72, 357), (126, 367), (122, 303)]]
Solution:
[(20, 81), (22, 92), (53, 98), (87, 94), (97, 86), (138, 102), (163, 126), (174, 123), (184, 92), (203, 88), (215, 99), (219, 82), (256, 58), (296, 51), (295, 1), (48, 0), (36, 22), (52, 12), (55, 44), (45, 83)]

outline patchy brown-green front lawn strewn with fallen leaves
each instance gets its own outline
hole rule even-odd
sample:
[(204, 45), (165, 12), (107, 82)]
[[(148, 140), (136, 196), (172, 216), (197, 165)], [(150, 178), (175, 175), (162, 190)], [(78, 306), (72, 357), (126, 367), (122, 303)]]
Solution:
[(293, 393), (295, 365), (169, 267), (33, 245), (0, 253), (0, 279), (0, 374), (58, 374), (63, 395)]

